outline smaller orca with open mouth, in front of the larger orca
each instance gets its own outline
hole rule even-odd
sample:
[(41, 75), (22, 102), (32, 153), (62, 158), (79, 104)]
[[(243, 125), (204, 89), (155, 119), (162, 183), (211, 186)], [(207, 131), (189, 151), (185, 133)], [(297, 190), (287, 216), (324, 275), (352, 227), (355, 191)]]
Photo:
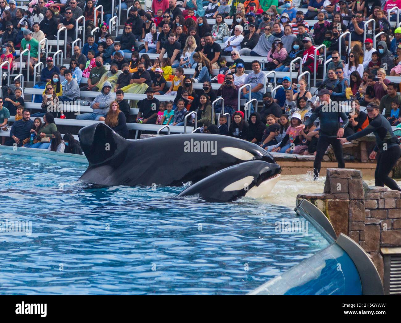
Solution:
[(280, 178), (281, 167), (261, 160), (244, 162), (212, 174), (176, 197), (199, 194), (208, 202), (232, 202), (267, 196)]

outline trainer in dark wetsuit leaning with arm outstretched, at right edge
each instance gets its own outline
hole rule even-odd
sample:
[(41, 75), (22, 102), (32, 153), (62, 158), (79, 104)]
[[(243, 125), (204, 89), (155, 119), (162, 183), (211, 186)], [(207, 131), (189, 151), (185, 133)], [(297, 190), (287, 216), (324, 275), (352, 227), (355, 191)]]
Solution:
[(369, 135), (369, 133), (373, 132), (376, 137), (376, 146), (369, 158), (375, 159), (376, 153), (379, 151), (375, 171), (375, 185), (386, 185), (391, 190), (401, 191), (397, 183), (389, 176), (391, 170), (394, 168), (397, 160), (401, 156), (399, 140), (397, 136), (394, 135), (389, 121), (384, 115), (380, 114), (380, 110), (377, 105), (368, 105), (366, 110), (369, 118), (372, 119), (371, 123), (369, 123), (365, 129), (340, 140), (342, 143), (344, 143)]

